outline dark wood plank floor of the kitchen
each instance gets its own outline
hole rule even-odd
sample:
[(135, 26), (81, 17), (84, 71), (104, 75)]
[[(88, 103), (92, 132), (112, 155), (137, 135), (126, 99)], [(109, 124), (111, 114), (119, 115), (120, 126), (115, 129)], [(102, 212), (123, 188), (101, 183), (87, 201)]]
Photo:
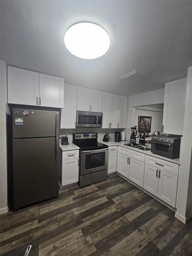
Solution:
[(1, 215), (2, 256), (192, 255), (192, 220), (117, 174), (59, 191), (59, 197)]

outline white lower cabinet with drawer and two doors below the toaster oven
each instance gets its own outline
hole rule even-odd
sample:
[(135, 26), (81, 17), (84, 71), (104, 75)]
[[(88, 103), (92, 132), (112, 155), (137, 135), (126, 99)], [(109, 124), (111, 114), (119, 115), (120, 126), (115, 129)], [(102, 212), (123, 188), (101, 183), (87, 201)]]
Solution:
[(143, 188), (176, 207), (179, 165), (146, 155)]

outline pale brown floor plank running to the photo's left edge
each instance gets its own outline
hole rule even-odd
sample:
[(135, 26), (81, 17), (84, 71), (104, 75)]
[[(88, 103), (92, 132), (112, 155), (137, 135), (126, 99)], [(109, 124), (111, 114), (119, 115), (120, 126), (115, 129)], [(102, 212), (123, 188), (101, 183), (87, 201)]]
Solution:
[(0, 241), (2, 242), (6, 239), (9, 239), (10, 237), (16, 236), (20, 233), (26, 232), (27, 230), (33, 229), (35, 227), (38, 227), (38, 220), (29, 222), (29, 223), (24, 224), (22, 226), (19, 226), (19, 227), (11, 229), (9, 231), (6, 231), (4, 233), (1, 233)]

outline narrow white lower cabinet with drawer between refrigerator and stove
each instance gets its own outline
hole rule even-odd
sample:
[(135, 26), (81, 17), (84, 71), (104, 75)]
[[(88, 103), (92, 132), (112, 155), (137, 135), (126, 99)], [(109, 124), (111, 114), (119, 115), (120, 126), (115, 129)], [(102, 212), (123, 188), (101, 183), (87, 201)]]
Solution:
[(78, 182), (79, 150), (62, 152), (61, 187)]

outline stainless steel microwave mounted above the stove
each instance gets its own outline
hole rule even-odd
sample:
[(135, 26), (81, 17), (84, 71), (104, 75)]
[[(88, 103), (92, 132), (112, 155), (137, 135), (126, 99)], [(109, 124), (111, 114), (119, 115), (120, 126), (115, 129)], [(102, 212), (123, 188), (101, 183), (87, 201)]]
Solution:
[(79, 111), (76, 115), (76, 127), (101, 127), (103, 113)]

